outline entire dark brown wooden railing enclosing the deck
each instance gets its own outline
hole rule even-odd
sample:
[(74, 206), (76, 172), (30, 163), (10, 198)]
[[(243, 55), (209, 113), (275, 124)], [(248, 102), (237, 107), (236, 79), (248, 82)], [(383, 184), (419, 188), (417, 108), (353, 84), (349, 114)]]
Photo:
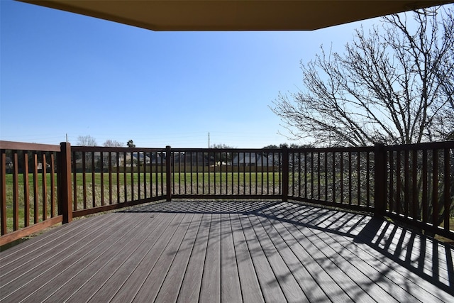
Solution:
[(454, 239), (454, 141), (365, 148), (101, 148), (0, 141), (0, 245), (73, 217), (171, 199), (282, 199)]

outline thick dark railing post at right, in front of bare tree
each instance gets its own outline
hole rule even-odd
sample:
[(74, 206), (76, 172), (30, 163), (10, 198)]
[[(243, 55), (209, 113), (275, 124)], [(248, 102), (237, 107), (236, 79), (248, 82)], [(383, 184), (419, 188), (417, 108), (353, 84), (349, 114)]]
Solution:
[(374, 214), (384, 216), (386, 205), (386, 151), (383, 143), (375, 143), (374, 148)]

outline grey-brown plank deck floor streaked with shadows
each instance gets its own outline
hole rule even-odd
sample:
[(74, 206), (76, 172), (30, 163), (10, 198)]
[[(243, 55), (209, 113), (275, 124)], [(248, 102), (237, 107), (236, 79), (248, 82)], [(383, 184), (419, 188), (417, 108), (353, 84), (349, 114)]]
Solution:
[(163, 202), (0, 253), (1, 302), (454, 302), (454, 248), (281, 202)]

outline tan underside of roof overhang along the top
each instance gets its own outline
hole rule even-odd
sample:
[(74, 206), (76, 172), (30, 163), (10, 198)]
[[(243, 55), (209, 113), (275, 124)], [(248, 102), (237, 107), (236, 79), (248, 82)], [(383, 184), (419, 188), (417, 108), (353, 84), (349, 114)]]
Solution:
[(307, 31), (454, 1), (19, 0), (153, 31)]

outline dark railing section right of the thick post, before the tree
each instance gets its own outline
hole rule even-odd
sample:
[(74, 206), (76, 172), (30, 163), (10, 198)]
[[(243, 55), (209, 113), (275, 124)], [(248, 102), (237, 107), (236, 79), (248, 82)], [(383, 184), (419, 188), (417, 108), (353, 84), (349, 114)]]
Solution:
[(383, 150), (384, 215), (454, 238), (454, 141)]

